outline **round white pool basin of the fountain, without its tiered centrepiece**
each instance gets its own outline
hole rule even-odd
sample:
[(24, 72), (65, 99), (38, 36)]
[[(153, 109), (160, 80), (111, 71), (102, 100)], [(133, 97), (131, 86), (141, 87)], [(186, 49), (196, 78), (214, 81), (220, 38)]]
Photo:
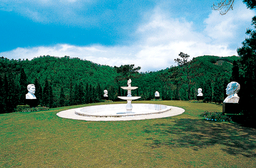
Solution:
[(162, 104), (133, 104), (132, 113), (125, 113), (126, 104), (107, 104), (77, 108), (75, 114), (87, 117), (129, 117), (167, 112), (171, 106)]

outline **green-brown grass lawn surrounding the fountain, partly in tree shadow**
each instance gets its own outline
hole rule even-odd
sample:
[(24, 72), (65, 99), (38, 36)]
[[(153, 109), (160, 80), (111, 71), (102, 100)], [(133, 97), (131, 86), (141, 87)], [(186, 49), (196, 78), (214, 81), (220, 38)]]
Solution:
[[(114, 103), (96, 103), (115, 104)], [(178, 116), (92, 122), (60, 118), (69, 108), (0, 114), (0, 167), (254, 167), (256, 130), (206, 121), (222, 106), (186, 101), (134, 101), (178, 106)]]

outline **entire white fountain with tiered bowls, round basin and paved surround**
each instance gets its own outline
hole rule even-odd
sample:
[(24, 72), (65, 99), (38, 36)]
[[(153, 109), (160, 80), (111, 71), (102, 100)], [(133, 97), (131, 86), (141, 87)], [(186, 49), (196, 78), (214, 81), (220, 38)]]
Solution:
[[(127, 96), (118, 96), (122, 100), (126, 100), (125, 104), (104, 104), (86, 106), (81, 108), (74, 108), (71, 110), (61, 111), (57, 113), (58, 116), (63, 118), (73, 118), (76, 120), (87, 121), (122, 121), (122, 120), (144, 120), (150, 118), (161, 118), (183, 113), (185, 110), (179, 107), (167, 106), (162, 104), (139, 104), (134, 103), (134, 109), (132, 106), (132, 100), (141, 98), (140, 96), (132, 96), (132, 90), (138, 87), (131, 86), (131, 79), (127, 81), (125, 87), (121, 87), (127, 90)], [(133, 109), (133, 111), (132, 111)]]

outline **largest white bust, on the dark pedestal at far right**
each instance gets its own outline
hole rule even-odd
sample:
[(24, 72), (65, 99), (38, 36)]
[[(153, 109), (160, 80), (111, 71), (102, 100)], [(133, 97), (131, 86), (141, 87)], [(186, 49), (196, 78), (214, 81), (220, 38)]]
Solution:
[(227, 97), (223, 101), (224, 103), (238, 103), (239, 96), (237, 96), (237, 93), (240, 90), (240, 84), (237, 82), (230, 82), (227, 85), (226, 88), (226, 94)]

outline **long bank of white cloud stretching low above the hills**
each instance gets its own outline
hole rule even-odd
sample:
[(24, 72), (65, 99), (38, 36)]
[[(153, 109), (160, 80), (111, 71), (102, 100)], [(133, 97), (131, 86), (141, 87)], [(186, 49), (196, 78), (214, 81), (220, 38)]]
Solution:
[[(233, 11), (229, 13), (231, 12)], [(185, 18), (172, 18), (166, 11), (156, 8), (147, 22), (138, 25), (134, 34), (139, 37), (139, 41), (128, 46), (58, 44), (16, 48), (2, 52), (0, 56), (32, 59), (40, 55), (68, 55), (103, 65), (135, 64), (142, 67), (141, 71), (155, 71), (176, 65), (173, 60), (180, 52), (187, 53), (191, 58), (200, 55), (236, 55), (237, 46), (231, 48), (230, 45), (233, 41), (241, 44), (243, 39), (237, 39), (237, 36), (241, 32), (244, 34), (246, 28), (241, 31), (241, 27), (244, 27), (242, 24), (249, 26), (253, 15), (255, 12), (245, 6), (239, 6), (235, 13), (225, 16), (212, 11), (205, 19), (205, 30), (199, 33), (195, 31), (193, 22), (188, 22)]]

